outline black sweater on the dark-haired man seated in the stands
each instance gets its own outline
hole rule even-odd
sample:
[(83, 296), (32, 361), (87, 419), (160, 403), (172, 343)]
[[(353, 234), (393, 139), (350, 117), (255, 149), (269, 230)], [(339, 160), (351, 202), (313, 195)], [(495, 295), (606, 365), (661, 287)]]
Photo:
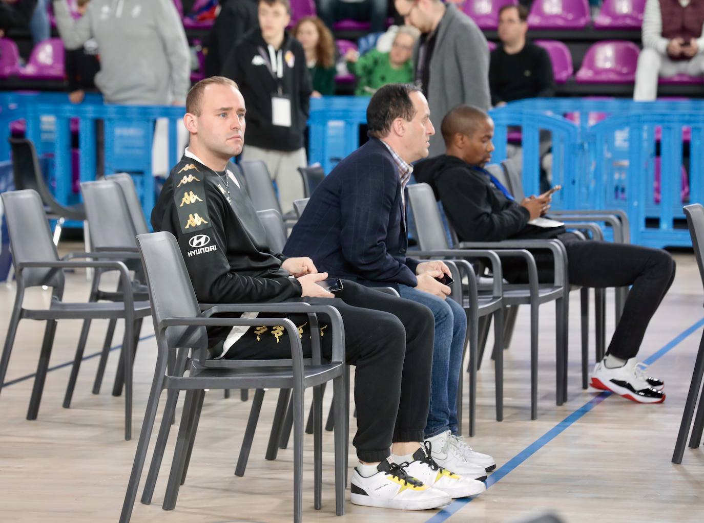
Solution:
[(510, 55), (499, 44), (491, 51), (489, 89), (492, 105), (555, 96), (553, 65), (548, 52), (527, 41), (520, 52)]

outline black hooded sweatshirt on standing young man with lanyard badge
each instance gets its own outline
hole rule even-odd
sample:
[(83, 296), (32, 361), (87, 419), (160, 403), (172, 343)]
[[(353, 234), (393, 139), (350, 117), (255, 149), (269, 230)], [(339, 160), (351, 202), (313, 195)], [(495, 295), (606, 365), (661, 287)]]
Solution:
[[(239, 84), (247, 106), (247, 143), (250, 146), (291, 151), (303, 147), (308, 122), (310, 78), (303, 47), (288, 32), (281, 49), (283, 76), (277, 78), (270, 52), (259, 28), (247, 32), (222, 67), (222, 76)], [(291, 100), (291, 127), (272, 124), (272, 96)]]

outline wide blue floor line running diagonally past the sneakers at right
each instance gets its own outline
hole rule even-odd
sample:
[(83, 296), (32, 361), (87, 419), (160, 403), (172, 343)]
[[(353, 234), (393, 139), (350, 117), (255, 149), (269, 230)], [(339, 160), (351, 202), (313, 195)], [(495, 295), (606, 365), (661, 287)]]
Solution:
[[(649, 356), (648, 359), (643, 361), (643, 363), (650, 365), (650, 363), (658, 361), (658, 359), (662, 358), (662, 356), (665, 356), (665, 354), (674, 349), (674, 347), (677, 347), (677, 345), (680, 344), (686, 337), (691, 335), (693, 332), (699, 330), (702, 326), (704, 326), (704, 318), (700, 319), (697, 323), (682, 331), (679, 335), (677, 335), (677, 337), (674, 337), (673, 340), (671, 340), (664, 347), (662, 347), (662, 349)], [(565, 429), (567, 429), (567, 427), (570, 427), (570, 425), (579, 420), (579, 418), (582, 418), (582, 416), (591, 411), (591, 409), (596, 407), (599, 403), (601, 403), (611, 395), (611, 392), (604, 391), (599, 393), (590, 401), (584, 403), (584, 405), (582, 405), (576, 411), (568, 415), (567, 418), (560, 421), (557, 425), (555, 425), (555, 427), (551, 428), (551, 430), (548, 430), (548, 432), (543, 434), (532, 444), (517, 453), (515, 456), (513, 456), (513, 458), (508, 460), (505, 465), (502, 465), (498, 470), (496, 470), (496, 472), (493, 472), (488, 478), (486, 478), (486, 488), (489, 489), (490, 486), (500, 482), (501, 479), (503, 479), (510, 472), (515, 470), (516, 467), (522, 465), (525, 460), (533, 456), (533, 454), (543, 448), (543, 446), (546, 446), (548, 443), (553, 441), (553, 439), (555, 439), (555, 437), (557, 437)], [(467, 505), (467, 503), (472, 503), (473, 499), (474, 498), (461, 498), (453, 501), (453, 503), (447, 505), (446, 508), (440, 510), (440, 512), (428, 519), (426, 523), (444, 522), (446, 519), (455, 514), (455, 512), (458, 512), (458, 510)]]

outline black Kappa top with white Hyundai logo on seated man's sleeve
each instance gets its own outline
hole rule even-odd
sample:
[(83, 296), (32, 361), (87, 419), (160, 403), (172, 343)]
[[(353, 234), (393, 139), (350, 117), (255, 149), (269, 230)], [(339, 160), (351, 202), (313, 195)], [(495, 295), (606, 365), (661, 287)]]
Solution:
[[(233, 164), (227, 170), (233, 176), (237, 173)], [(184, 156), (164, 183), (151, 212), (151, 226), (175, 235), (201, 303), (283, 302), (300, 297), (301, 284), (281, 268), (286, 258), (270, 251), (266, 232), (241, 181), (240, 185), (230, 179), (228, 202), (222, 176)], [(192, 203), (185, 198), (191, 194), (196, 196)], [(215, 340), (209, 334), (212, 346)]]

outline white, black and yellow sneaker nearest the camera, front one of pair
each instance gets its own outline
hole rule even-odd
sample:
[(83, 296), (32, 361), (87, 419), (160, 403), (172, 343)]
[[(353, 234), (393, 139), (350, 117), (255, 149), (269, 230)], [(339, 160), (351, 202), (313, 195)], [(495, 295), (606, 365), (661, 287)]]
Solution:
[(383, 460), (377, 470), (376, 474), (363, 477), (355, 468), (350, 482), (352, 503), (367, 507), (427, 510), (444, 507), (452, 501), (443, 491), (410, 477), (396, 463)]

